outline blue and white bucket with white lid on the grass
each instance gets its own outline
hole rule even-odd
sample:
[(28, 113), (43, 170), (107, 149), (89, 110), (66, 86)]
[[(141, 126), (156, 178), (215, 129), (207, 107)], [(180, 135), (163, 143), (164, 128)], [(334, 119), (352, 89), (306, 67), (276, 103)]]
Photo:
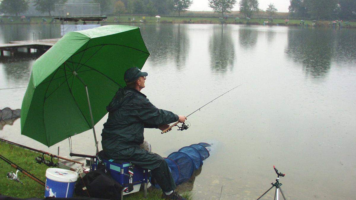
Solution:
[(46, 170), (45, 197), (72, 197), (77, 179), (77, 172), (60, 168), (48, 168)]

